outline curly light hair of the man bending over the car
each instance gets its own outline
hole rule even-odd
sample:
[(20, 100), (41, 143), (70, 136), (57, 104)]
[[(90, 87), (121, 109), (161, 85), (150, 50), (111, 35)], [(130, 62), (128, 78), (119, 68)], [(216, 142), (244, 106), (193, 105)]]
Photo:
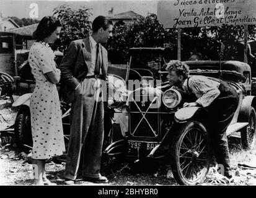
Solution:
[(184, 79), (187, 79), (189, 67), (181, 61), (170, 61), (167, 63), (166, 71), (175, 71), (177, 75), (183, 75)]

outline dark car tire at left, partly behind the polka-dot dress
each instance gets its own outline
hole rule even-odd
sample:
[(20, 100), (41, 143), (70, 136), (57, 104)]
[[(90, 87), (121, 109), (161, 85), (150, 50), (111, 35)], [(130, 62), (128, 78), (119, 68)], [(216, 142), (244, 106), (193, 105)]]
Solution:
[(33, 146), (30, 110), (28, 106), (22, 106), (17, 114), (14, 125), (15, 143), (19, 152), (29, 153)]

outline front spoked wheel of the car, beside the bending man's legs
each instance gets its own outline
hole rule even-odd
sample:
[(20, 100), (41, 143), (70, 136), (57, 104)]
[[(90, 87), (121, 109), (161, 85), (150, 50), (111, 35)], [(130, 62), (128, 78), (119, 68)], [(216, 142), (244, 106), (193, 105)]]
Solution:
[(174, 178), (182, 185), (201, 183), (210, 168), (210, 141), (203, 124), (190, 121), (179, 126), (170, 152)]

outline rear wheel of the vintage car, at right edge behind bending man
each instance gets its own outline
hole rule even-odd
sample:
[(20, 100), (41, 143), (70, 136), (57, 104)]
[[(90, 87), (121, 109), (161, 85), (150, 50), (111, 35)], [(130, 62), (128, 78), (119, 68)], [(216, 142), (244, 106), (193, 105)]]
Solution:
[(242, 149), (245, 150), (253, 149), (256, 141), (256, 113), (252, 106), (250, 107), (248, 122), (249, 125), (244, 127), (244, 129), (241, 131)]

